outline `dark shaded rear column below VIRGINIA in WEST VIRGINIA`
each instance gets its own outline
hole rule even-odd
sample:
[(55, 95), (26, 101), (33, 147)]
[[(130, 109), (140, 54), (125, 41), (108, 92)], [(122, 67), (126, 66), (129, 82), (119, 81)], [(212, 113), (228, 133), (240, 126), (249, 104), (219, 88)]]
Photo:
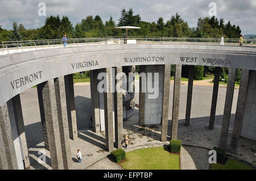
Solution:
[(214, 128), (219, 82), (220, 82), (220, 67), (216, 66), (214, 70), (214, 84), (213, 84), (213, 92), (212, 92), (212, 106), (210, 107), (209, 129)]

